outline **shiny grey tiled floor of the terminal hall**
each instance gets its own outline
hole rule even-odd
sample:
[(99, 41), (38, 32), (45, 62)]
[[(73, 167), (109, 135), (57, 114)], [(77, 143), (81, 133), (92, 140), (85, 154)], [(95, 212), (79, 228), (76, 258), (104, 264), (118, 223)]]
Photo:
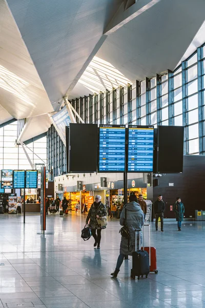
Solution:
[[(0, 215), (0, 308), (205, 307), (205, 222), (165, 223), (165, 233), (151, 226), (157, 248), (157, 275), (130, 279), (132, 260), (118, 279), (119, 220), (102, 232), (100, 251), (80, 231), (85, 216), (49, 215), (47, 234), (39, 233), (40, 217)], [(147, 237), (147, 232), (145, 232)]]

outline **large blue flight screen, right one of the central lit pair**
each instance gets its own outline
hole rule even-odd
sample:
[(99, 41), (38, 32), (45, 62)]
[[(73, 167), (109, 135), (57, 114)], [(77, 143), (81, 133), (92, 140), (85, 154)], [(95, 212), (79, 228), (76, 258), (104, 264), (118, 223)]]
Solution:
[(128, 171), (153, 171), (154, 126), (129, 125)]

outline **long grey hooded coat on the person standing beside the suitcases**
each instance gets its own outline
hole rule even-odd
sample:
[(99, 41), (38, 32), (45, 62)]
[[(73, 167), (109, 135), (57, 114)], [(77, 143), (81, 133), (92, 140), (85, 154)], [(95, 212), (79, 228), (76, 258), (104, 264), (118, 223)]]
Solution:
[[(140, 205), (132, 201), (127, 203), (121, 212), (119, 223), (121, 226), (125, 224), (125, 208), (127, 208), (127, 225), (129, 228), (131, 241), (130, 248), (128, 249), (128, 239), (121, 237), (120, 254), (132, 256), (135, 252), (135, 229), (141, 229), (144, 225), (144, 213)], [(142, 243), (142, 233), (140, 232), (140, 242)], [(137, 233), (137, 250), (139, 248), (139, 232)]]

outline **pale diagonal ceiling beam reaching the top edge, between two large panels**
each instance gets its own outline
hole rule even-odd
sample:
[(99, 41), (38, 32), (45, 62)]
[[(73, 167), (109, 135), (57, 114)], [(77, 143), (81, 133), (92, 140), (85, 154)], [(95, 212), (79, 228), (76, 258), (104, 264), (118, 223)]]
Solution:
[(118, 29), (120, 29), (122, 26), (125, 26), (127, 23), (132, 21), (134, 18), (139, 16), (140, 14), (146, 12), (151, 7), (153, 7), (155, 4), (160, 2), (161, 0), (142, 0), (137, 1), (135, 4), (133, 4), (131, 7), (129, 7), (127, 10), (124, 10), (124, 3), (121, 4), (120, 8), (112, 18), (111, 22), (107, 26), (107, 28), (104, 31), (104, 34), (109, 35)]

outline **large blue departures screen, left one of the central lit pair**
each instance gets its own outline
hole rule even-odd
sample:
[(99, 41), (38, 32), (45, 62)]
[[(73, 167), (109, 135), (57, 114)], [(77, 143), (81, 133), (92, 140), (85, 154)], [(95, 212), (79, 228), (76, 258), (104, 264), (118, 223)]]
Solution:
[(99, 126), (99, 172), (125, 171), (125, 125)]

